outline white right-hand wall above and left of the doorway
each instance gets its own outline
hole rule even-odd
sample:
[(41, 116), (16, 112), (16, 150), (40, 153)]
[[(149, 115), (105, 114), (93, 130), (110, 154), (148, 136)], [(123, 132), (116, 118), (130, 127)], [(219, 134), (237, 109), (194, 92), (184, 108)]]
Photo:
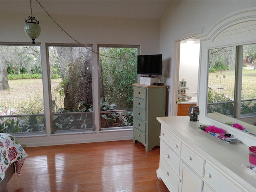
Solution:
[(173, 1), (160, 22), (160, 54), (163, 55), (164, 77), (169, 85), (170, 107), (168, 115), (176, 111), (177, 64), (176, 42), (207, 32), (218, 20), (232, 12), (254, 7), (255, 1)]

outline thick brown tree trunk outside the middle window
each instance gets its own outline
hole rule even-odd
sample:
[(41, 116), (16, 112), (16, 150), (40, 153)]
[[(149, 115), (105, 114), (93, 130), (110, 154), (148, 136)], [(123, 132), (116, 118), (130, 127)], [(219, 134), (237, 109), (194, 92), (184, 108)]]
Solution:
[[(64, 108), (72, 110), (80, 102), (92, 104), (92, 53), (82, 47), (57, 48), (65, 88)], [(102, 82), (100, 83), (102, 85)], [(102, 86), (100, 88), (102, 94)]]

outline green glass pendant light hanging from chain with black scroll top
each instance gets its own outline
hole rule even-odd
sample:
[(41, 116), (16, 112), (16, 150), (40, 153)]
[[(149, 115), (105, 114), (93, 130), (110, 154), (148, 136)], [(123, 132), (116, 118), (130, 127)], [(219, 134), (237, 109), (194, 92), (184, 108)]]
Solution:
[[(26, 35), (32, 39), (32, 44), (35, 44), (35, 39), (39, 37), (41, 28), (39, 26), (39, 21), (32, 16), (32, 2), (30, 0), (30, 11), (31, 11), (31, 16), (28, 17), (28, 19), (25, 19), (25, 26), (24, 26), (24, 31)], [(29, 21), (31, 20), (31, 21)]]

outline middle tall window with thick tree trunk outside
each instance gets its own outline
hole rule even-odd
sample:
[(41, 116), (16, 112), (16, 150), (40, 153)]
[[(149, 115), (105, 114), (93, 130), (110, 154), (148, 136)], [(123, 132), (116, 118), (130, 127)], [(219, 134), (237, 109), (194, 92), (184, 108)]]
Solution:
[(53, 132), (94, 131), (91, 47), (48, 46)]

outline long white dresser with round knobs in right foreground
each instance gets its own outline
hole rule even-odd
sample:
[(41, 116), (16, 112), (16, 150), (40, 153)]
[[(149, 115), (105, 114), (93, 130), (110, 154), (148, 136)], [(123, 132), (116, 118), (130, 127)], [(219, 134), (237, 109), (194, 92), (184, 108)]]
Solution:
[(161, 123), (160, 162), (156, 171), (172, 192), (256, 192), (256, 175), (249, 164), (248, 146), (225, 143), (202, 131), (188, 116), (158, 117)]

